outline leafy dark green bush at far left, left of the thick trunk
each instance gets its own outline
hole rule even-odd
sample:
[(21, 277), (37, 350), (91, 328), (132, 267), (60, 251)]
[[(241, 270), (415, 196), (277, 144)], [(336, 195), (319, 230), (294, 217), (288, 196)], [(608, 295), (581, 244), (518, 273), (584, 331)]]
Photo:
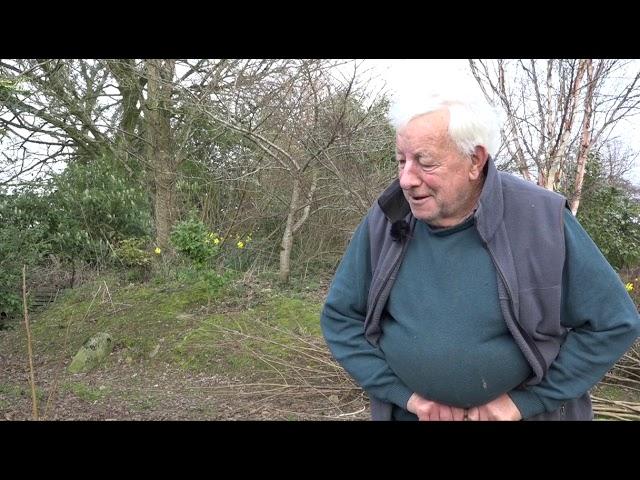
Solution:
[[(130, 175), (109, 155), (79, 157), (37, 190), (0, 191), (0, 312), (15, 315), (21, 309), (23, 265), (42, 264), (50, 255), (74, 268), (97, 264), (122, 239), (150, 234), (141, 170)], [(120, 252), (124, 261), (144, 262), (134, 250), (129, 245)]]

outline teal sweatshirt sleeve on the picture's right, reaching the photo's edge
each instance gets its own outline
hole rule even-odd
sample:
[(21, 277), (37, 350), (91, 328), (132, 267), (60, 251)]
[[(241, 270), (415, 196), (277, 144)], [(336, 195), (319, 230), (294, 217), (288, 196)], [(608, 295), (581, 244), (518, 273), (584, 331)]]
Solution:
[(523, 418), (586, 393), (640, 334), (640, 315), (622, 280), (578, 220), (568, 210), (564, 217), (561, 323), (569, 332), (542, 382), (510, 392)]

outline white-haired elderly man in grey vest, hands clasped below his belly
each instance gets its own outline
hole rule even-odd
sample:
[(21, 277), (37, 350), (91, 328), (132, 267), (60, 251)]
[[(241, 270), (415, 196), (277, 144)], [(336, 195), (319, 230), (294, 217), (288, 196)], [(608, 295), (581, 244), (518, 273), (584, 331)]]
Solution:
[(396, 106), (398, 179), (356, 229), (321, 324), (374, 420), (590, 420), (640, 317), (566, 200), (498, 172), (464, 101)]

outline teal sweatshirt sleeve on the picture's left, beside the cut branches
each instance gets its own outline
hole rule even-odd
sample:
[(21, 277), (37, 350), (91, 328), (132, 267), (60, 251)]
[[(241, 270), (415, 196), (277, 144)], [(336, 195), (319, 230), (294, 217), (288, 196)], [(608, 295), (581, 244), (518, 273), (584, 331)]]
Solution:
[(406, 408), (413, 393), (364, 336), (371, 284), (367, 217), (356, 229), (329, 288), (320, 323), (334, 358), (368, 394)]

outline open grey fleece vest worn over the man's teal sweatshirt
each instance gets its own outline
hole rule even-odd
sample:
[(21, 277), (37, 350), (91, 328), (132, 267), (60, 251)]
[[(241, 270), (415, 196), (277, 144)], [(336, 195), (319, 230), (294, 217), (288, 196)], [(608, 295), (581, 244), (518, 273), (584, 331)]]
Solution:
[[(498, 172), (487, 161), (475, 227), (496, 268), (507, 328), (533, 371), (525, 385), (542, 380), (567, 333), (560, 324), (565, 207), (561, 195)], [(377, 345), (382, 314), (416, 224), (398, 180), (378, 198), (368, 220), (373, 277), (364, 329), (367, 340)], [(398, 239), (390, 230), (400, 221), (408, 225), (408, 234)], [(372, 420), (390, 420), (391, 411), (391, 404), (371, 397)], [(592, 418), (586, 393), (531, 420)]]

